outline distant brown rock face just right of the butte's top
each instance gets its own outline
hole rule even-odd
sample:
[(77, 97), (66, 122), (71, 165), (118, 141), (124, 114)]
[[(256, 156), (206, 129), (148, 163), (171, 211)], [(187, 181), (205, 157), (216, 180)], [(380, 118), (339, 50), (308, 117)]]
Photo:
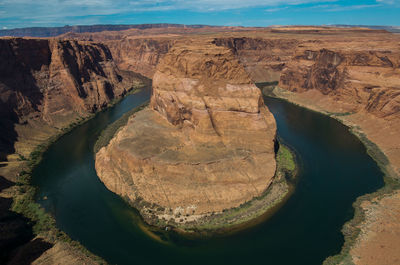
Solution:
[(279, 81), (299, 40), (236, 37), (216, 38), (214, 43), (230, 48), (254, 82), (271, 82)]

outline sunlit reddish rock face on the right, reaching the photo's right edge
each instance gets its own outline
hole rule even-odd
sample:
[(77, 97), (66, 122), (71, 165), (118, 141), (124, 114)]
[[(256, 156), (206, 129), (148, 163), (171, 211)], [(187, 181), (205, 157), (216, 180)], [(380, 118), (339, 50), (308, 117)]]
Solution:
[(296, 51), (279, 86), (293, 91), (318, 90), (324, 95), (377, 117), (398, 118), (400, 52), (395, 50), (307, 49)]

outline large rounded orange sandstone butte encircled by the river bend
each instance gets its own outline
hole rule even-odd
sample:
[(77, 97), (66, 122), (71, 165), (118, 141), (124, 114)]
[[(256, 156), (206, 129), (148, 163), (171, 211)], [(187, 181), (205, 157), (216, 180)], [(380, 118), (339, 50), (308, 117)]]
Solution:
[(186, 41), (159, 62), (150, 107), (100, 149), (96, 171), (149, 223), (197, 221), (269, 187), (275, 136), (274, 117), (233, 53)]

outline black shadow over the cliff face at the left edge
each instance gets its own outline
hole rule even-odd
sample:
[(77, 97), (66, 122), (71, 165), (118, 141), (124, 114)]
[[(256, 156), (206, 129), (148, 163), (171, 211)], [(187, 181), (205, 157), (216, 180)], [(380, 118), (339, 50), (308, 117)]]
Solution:
[[(30, 49), (26, 49), (29, 44)], [(35, 51), (34, 56), (31, 54)], [(43, 93), (33, 72), (48, 66), (51, 60), (48, 41), (0, 40), (0, 161), (15, 152), (19, 117), (38, 110)]]

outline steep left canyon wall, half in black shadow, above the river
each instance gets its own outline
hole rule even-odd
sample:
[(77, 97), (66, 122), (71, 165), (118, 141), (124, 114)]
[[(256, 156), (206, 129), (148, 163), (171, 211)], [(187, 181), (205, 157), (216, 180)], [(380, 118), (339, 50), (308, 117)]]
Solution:
[(2, 159), (15, 150), (28, 156), (54, 131), (103, 108), (138, 81), (116, 68), (102, 44), (6, 38), (0, 39), (0, 58)]

